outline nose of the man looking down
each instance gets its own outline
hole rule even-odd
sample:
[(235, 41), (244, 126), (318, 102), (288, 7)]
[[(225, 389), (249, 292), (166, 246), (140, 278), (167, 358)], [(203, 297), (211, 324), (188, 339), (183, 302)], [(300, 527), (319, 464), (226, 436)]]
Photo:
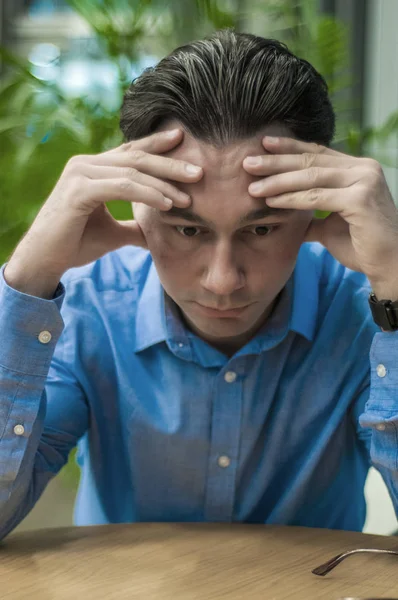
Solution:
[(220, 242), (209, 252), (202, 286), (216, 296), (228, 296), (244, 287), (245, 275), (236, 260), (236, 252), (227, 242)]

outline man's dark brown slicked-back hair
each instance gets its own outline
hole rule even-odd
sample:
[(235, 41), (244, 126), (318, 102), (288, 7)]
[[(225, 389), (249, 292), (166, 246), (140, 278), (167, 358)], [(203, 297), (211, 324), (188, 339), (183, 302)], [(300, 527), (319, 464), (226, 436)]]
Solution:
[(171, 119), (216, 146), (270, 124), (326, 146), (335, 134), (322, 75), (282, 42), (231, 29), (176, 48), (131, 83), (120, 119), (126, 141)]

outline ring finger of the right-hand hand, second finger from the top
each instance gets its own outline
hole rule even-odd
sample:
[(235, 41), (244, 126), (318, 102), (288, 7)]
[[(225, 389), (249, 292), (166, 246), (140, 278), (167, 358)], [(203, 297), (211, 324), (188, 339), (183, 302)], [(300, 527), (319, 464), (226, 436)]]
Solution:
[[(352, 169), (358, 166), (358, 159), (351, 157), (347, 160), (345, 156), (333, 156), (326, 154), (262, 154), (260, 156), (247, 156), (243, 161), (243, 168), (253, 175), (269, 175), (270, 173), (284, 173), (287, 171), (299, 171), (311, 167), (322, 167), (324, 169)], [(254, 161), (251, 160), (254, 159)]]

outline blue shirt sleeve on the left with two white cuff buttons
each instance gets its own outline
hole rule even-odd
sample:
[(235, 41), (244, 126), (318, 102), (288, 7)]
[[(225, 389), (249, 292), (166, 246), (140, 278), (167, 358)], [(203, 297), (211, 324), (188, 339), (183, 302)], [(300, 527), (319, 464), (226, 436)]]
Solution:
[(33, 508), (88, 427), (60, 312), (64, 285), (51, 300), (29, 296), (6, 283), (6, 264), (0, 270), (0, 540)]

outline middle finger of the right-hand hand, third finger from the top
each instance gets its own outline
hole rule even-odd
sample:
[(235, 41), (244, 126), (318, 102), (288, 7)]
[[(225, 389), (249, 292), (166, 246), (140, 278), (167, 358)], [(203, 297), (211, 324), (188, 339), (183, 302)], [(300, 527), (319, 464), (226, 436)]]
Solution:
[(359, 169), (325, 169), (311, 167), (304, 171), (293, 171), (270, 175), (249, 185), (249, 193), (257, 197), (277, 196), (288, 192), (299, 192), (313, 188), (350, 187), (363, 178)]

